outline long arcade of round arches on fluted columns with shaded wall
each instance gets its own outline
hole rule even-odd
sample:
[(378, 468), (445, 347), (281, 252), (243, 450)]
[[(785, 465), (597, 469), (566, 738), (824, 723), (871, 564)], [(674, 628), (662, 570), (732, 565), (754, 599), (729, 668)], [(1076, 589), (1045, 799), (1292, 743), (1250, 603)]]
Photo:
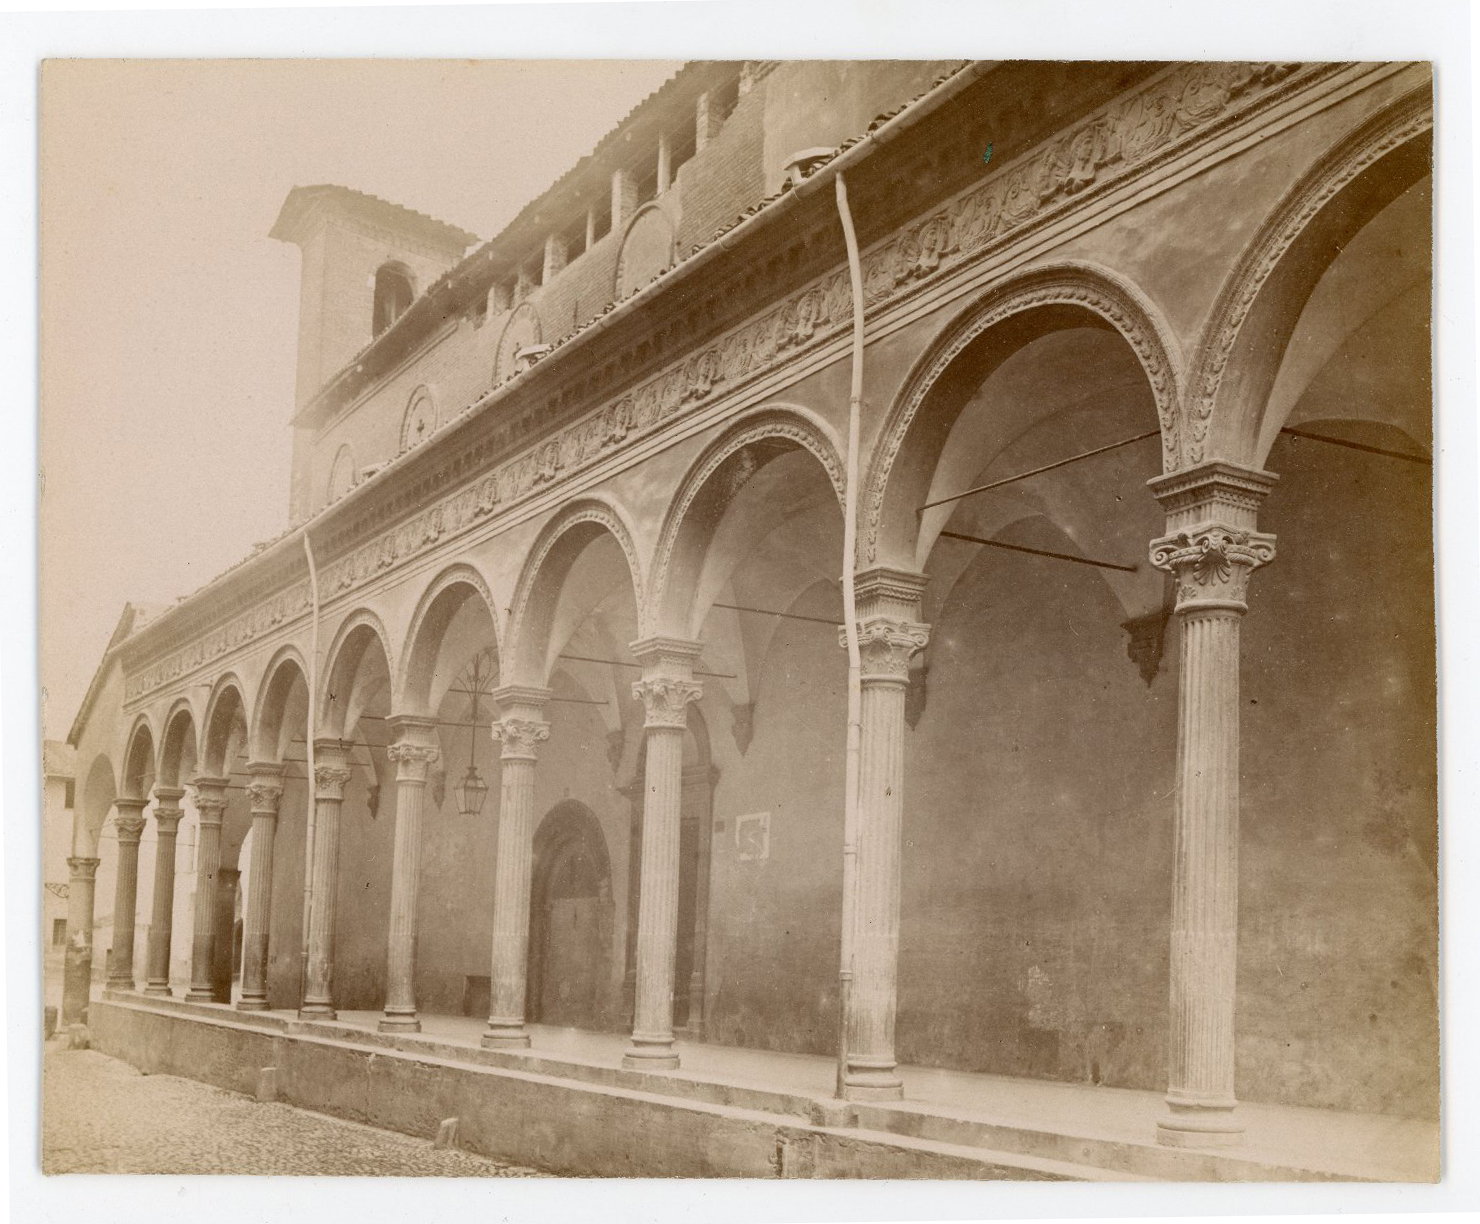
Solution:
[[(115, 813), (110, 986), (629, 1032), (656, 1070), (842, 1026), (847, 1097), (901, 1063), (1168, 1089), (1187, 1146), (1236, 1098), (1433, 1116), (1430, 178), (1357, 186), (1211, 382), (1114, 277), (990, 286), (910, 354), (864, 434), (855, 832), (839, 435), (768, 401), (502, 568), (326, 616), (320, 666), (295, 638), (141, 716), (80, 805)], [(1205, 457), (1168, 383), (1214, 388)]]

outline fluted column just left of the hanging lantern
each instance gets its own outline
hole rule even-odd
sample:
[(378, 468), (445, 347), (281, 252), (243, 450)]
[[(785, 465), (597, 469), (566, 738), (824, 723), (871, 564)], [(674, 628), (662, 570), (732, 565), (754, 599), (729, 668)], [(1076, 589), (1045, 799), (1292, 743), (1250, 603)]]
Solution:
[[(422, 798), (428, 770), (441, 755), (429, 718), (392, 718), (395, 850), (391, 858), (391, 934), (386, 947), (382, 1033), (419, 1033), (416, 1018), (416, 888), (422, 870)], [(474, 728), (477, 734), (477, 728)]]

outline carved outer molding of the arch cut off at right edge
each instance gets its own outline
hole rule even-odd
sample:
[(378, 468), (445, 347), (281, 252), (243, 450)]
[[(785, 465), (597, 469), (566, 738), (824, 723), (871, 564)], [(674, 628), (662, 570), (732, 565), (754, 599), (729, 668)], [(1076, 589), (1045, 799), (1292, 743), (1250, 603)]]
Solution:
[(1249, 253), (1224, 283), (1203, 332), (1202, 355), (1190, 379), (1185, 408), (1184, 463), (1200, 463), (1212, 423), (1212, 410), (1239, 332), (1280, 260), (1316, 215), (1357, 175), (1434, 124), (1431, 93), (1416, 90), (1375, 115), (1326, 154), (1280, 201), (1259, 228)]

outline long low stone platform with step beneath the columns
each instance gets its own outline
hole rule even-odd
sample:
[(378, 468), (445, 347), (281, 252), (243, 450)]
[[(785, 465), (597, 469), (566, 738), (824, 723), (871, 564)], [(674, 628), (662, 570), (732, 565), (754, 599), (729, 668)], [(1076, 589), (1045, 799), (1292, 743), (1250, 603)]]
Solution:
[(379, 1012), (300, 1021), (104, 992), (93, 1045), (141, 1070), (256, 1092), (496, 1160), (596, 1177), (864, 1177), (1169, 1181), (1433, 1181), (1436, 1123), (1242, 1106), (1245, 1144), (1162, 1147), (1154, 1092), (904, 1067), (906, 1100), (845, 1104), (829, 1058), (679, 1042), (682, 1070), (622, 1067), (616, 1033), (531, 1026), (527, 1051), (478, 1045), (482, 1023)]

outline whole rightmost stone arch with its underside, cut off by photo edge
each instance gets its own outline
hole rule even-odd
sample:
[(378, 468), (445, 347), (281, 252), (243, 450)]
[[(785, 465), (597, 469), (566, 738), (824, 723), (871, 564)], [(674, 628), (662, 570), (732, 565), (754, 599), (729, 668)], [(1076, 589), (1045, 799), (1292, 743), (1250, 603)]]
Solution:
[(1433, 102), (1413, 90), (1350, 132), (1295, 184), (1224, 281), (1188, 379), (1184, 466), (1252, 463), (1291, 332), (1341, 247), (1433, 169)]

